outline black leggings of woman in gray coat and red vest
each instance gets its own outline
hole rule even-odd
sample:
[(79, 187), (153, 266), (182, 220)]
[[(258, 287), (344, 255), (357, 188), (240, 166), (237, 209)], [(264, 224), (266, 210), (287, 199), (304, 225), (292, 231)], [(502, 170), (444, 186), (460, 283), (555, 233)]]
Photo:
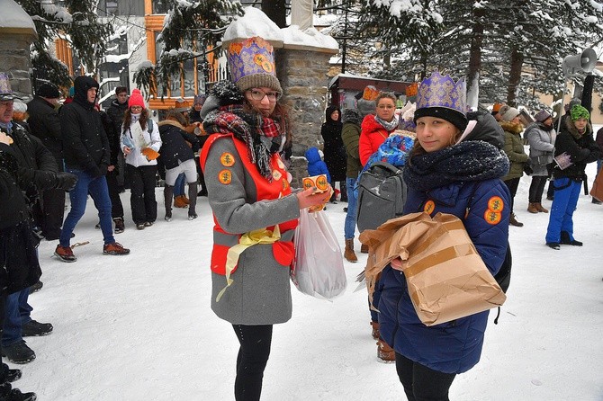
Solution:
[(264, 369), (270, 356), (272, 325), (232, 325), (237, 334), (237, 379), (235, 399), (257, 401), (262, 393)]

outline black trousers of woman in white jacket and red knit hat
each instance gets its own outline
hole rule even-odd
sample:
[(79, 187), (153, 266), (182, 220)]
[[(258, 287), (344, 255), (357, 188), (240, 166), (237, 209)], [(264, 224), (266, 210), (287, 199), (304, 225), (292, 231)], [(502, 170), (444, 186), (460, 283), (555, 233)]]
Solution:
[(155, 183), (157, 165), (126, 165), (126, 176), (130, 177), (130, 206), (135, 224), (157, 220)]

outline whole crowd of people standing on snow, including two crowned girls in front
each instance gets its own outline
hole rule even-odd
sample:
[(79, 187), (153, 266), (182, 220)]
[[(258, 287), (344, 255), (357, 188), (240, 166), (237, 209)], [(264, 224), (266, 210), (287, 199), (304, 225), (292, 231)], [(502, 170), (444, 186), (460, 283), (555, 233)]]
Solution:
[[(262, 62), (249, 61), (258, 59)], [(228, 62), (229, 81), (214, 85), (207, 97), (195, 95), (190, 110), (176, 104), (158, 122), (138, 89), (129, 94), (117, 87), (115, 99), (101, 111), (99, 85), (89, 76), (76, 77), (71, 101), (60, 107), (58, 88), (40, 85), (27, 113), (19, 115), (14, 112), (18, 98), (8, 76), (0, 73), (0, 255), (8, 272), (0, 277), (0, 325), (8, 361), (32, 361), (35, 352), (23, 337), (53, 329), (32, 319), (28, 303), (30, 291), (42, 286), (40, 240), (58, 240), (58, 259), (76, 262), (71, 241), (89, 195), (98, 210), (103, 254), (130, 254), (115, 240), (127, 227), (120, 194), (130, 190), (134, 227), (152, 227), (158, 177), (167, 222), (174, 218), (173, 207), (187, 209), (189, 220), (197, 218), (197, 197), (208, 196), (215, 222), (208, 255), (211, 309), (232, 325), (239, 343), (238, 400), (260, 398), (273, 326), (292, 316), (288, 267), (301, 210), (347, 202), (343, 256), (357, 262), (358, 181), (397, 135), (410, 136), (414, 144), (398, 165), (408, 187), (403, 214), (443, 212), (460, 218), (492, 274), (508, 253), (509, 226), (523, 226), (514, 210), (523, 174), (531, 176), (527, 212), (549, 216), (545, 245), (554, 250), (582, 245), (574, 237), (572, 215), (586, 165), (603, 165), (603, 129), (595, 139), (590, 111), (580, 102), (558, 117), (557, 132), (546, 109), (537, 111), (527, 127), (510, 105), (468, 111), (464, 80), (438, 72), (420, 83), (415, 102), (407, 105), (395, 94), (367, 86), (356, 107), (327, 108), (320, 129), (324, 145), (305, 154), (308, 174), (328, 177), (327, 191), (297, 190), (283, 156), (293, 138), (280, 102), (284, 91), (274, 49), (259, 37), (234, 42)], [(550, 210), (542, 201), (546, 183)], [(235, 248), (242, 250), (232, 252)], [(365, 245), (360, 251), (367, 252)], [(369, 301), (377, 357), (395, 363), (409, 400), (447, 400), (455, 376), (480, 359), (488, 312), (443, 325), (422, 324), (406, 279), (396, 270), (400, 263), (394, 259), (385, 267)], [(0, 399), (35, 399), (12, 388), (20, 377), (21, 370), (3, 364)]]

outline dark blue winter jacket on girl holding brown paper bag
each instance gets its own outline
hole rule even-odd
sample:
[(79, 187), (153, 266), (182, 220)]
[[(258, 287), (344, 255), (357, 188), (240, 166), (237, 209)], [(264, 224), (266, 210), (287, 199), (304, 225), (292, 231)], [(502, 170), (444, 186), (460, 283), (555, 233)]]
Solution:
[[(501, 219), (496, 224), (484, 218), (488, 202), (494, 197), (504, 202)], [(496, 274), (508, 246), (510, 194), (507, 186), (500, 179), (491, 179), (479, 183), (450, 183), (430, 192), (409, 187), (404, 214), (423, 211), (426, 204), (431, 204), (429, 200), (436, 205), (432, 217), (443, 212), (463, 219), (483, 262)], [(427, 326), (421, 323), (412, 306), (402, 272), (387, 266), (381, 282), (383, 292), (378, 306), (381, 335), (396, 352), (445, 373), (462, 373), (480, 361), (488, 311)]]

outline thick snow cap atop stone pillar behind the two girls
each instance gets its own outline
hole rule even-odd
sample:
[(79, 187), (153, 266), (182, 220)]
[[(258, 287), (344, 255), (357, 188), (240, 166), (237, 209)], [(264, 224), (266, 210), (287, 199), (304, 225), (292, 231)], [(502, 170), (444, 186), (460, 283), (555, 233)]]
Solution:
[(244, 10), (245, 14), (230, 23), (224, 31), (222, 46), (228, 46), (233, 41), (259, 36), (268, 40), (276, 49), (313, 49), (329, 53), (339, 51), (337, 40), (323, 35), (314, 28), (301, 31), (297, 25), (291, 25), (280, 29), (261, 10), (252, 6), (245, 7)]

